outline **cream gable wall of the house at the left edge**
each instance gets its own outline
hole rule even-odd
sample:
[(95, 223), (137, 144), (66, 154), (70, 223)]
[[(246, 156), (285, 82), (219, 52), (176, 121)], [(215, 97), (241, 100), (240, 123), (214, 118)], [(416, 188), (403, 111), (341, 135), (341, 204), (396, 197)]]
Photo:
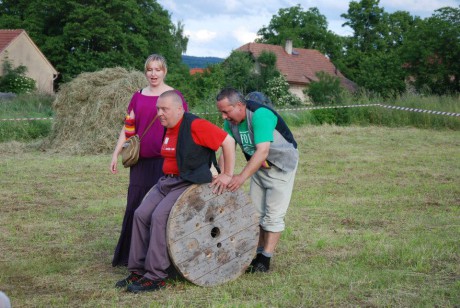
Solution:
[[(0, 63), (8, 57), (13, 67), (27, 67), (26, 76), (33, 78), (40, 92), (53, 94), (53, 80), (57, 72), (50, 66), (30, 39), (22, 33), (1, 54)], [(0, 74), (2, 74), (0, 70)]]

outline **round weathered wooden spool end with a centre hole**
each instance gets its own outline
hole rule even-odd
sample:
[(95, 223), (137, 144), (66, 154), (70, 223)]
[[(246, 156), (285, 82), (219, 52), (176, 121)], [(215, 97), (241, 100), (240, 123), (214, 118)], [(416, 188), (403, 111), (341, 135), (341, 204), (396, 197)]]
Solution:
[(214, 286), (238, 278), (249, 266), (259, 221), (242, 189), (216, 195), (208, 184), (192, 185), (171, 210), (166, 238), (179, 273), (194, 284)]

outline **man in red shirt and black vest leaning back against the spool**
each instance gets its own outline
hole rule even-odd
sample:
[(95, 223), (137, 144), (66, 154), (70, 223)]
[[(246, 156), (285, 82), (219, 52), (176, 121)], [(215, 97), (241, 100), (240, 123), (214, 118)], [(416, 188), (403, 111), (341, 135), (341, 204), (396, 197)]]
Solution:
[[(166, 226), (171, 208), (192, 184), (211, 183), (220, 194), (233, 176), (235, 141), (209, 121), (186, 113), (175, 91), (166, 91), (157, 102), (158, 118), (166, 128), (161, 155), (165, 176), (147, 193), (134, 213), (128, 270), (131, 274), (116, 283), (137, 293), (166, 286), (170, 266)], [(217, 166), (215, 152), (222, 148), (224, 165)], [(210, 167), (221, 172), (213, 177)], [(219, 168), (220, 167), (220, 168)]]

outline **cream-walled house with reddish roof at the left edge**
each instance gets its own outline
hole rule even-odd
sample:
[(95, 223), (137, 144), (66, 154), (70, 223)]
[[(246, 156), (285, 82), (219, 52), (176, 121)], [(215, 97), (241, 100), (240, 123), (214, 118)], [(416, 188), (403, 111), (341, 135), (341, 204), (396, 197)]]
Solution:
[[(0, 30), (0, 65), (5, 58), (11, 61), (13, 67), (27, 67), (26, 75), (36, 81), (40, 92), (54, 93), (53, 81), (59, 73), (25, 30)], [(0, 69), (0, 76), (2, 74)]]

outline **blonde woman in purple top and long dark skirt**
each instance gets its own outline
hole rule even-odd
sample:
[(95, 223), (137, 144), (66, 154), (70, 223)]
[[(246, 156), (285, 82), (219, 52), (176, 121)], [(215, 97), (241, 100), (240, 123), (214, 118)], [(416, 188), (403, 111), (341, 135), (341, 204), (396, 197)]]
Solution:
[[(132, 121), (134, 131), (139, 136), (142, 136), (150, 122), (157, 115), (156, 104), (160, 94), (173, 89), (164, 82), (167, 66), (166, 60), (162, 56), (157, 54), (149, 56), (145, 61), (144, 69), (149, 85), (134, 93), (127, 110), (127, 119), (129, 118)], [(187, 111), (187, 103), (182, 93), (177, 92), (182, 97), (184, 109)], [(110, 171), (113, 174), (118, 172), (118, 155), (123, 143), (126, 137), (132, 133), (125, 127), (127, 126), (123, 126), (121, 129), (117, 145), (112, 154)], [(129, 129), (131, 129), (131, 126), (129, 126)], [(160, 121), (156, 120), (141, 140), (139, 161), (130, 167), (126, 211), (112, 266), (126, 266), (128, 264), (134, 211), (141, 204), (145, 194), (163, 175), (163, 159), (160, 155), (163, 132), (164, 127), (160, 124)]]

